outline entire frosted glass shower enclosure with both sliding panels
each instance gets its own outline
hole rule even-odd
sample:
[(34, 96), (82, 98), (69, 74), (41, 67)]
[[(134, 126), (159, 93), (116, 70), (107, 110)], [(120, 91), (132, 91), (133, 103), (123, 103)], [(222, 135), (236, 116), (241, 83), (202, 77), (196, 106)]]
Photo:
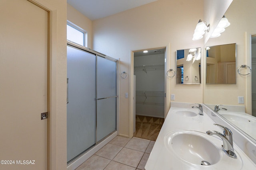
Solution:
[(117, 60), (68, 41), (68, 163), (116, 131), (117, 97)]

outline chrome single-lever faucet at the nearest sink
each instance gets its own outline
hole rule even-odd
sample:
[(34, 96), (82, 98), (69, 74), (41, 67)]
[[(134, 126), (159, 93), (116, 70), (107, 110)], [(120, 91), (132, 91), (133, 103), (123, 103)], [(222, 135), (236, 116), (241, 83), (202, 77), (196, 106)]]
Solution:
[(217, 135), (223, 141), (223, 145), (221, 145), (222, 150), (230, 157), (237, 158), (234, 148), (233, 148), (233, 139), (232, 139), (232, 132), (227, 127), (222, 125), (214, 124), (216, 126), (223, 128), (223, 134), (217, 131), (206, 131), (207, 135)]

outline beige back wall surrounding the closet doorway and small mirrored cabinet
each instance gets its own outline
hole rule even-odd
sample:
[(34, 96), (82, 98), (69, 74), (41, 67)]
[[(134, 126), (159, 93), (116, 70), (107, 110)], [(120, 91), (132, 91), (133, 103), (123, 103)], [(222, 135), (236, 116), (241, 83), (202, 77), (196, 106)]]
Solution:
[[(170, 68), (176, 68), (176, 50), (202, 47), (203, 39), (192, 41), (196, 23), (203, 18), (203, 0), (158, 0), (93, 21), (93, 49), (114, 58), (120, 58), (120, 71), (131, 75), (131, 52), (166, 47), (170, 44)], [(196, 9), (196, 10), (195, 10)], [(170, 69), (167, 68), (167, 69)], [(176, 69), (175, 69), (176, 70)], [(176, 85), (170, 80), (170, 94), (175, 102), (202, 103), (202, 85)], [(120, 79), (119, 134), (129, 134), (129, 78)], [(167, 96), (170, 98), (170, 95)]]

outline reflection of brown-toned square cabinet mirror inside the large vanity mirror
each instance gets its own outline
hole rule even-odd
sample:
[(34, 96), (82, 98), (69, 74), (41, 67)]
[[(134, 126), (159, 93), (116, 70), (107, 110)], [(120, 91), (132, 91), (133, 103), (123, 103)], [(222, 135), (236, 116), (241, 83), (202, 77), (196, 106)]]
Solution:
[(236, 44), (206, 47), (206, 84), (236, 84)]

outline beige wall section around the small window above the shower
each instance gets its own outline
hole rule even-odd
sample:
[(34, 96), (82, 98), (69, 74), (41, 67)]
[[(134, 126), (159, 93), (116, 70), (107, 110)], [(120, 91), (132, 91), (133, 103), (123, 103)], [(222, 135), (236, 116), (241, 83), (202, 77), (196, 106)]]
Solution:
[(87, 31), (87, 47), (92, 49), (92, 21), (67, 4), (67, 20)]

